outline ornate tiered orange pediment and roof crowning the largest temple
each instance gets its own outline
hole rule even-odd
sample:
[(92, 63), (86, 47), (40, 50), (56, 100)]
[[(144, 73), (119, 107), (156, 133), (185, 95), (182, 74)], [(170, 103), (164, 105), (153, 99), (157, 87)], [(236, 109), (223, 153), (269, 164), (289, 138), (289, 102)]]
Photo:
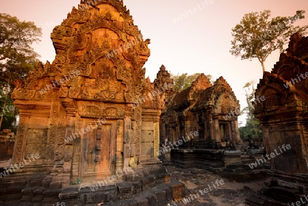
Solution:
[[(51, 34), (56, 56), (38, 65), (16, 99), (60, 98), (133, 103), (144, 91), (142, 66), (150, 55), (148, 44), (133, 24), (123, 1), (81, 1)], [(70, 75), (63, 83), (55, 83)], [(55, 84), (55, 85), (54, 85)], [(46, 92), (40, 92), (49, 86)], [(58, 92), (60, 91), (60, 92)]]

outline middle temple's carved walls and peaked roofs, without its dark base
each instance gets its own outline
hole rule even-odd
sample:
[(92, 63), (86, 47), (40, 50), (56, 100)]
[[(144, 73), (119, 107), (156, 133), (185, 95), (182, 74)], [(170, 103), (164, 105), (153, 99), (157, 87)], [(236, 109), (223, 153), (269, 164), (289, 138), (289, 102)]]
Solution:
[(179, 148), (183, 149), (220, 149), (225, 146), (220, 142), (242, 143), (234, 126), (238, 125), (238, 110), (240, 104), (227, 81), (220, 77), (212, 85), (202, 74), (166, 105), (159, 124), (160, 143), (181, 141)]

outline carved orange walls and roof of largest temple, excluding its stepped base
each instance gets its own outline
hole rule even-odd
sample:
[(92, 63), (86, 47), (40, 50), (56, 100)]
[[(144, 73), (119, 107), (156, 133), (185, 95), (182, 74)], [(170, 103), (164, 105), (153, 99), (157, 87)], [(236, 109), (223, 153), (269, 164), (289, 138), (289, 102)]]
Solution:
[[(14, 161), (39, 153), (44, 167), (55, 164), (53, 175), (64, 172), (74, 181), (135, 167), (142, 155), (143, 160), (156, 161), (157, 124), (167, 89), (164, 80), (155, 86), (145, 78), (142, 66), (151, 54), (151, 40), (143, 40), (123, 1), (81, 1), (53, 29), (51, 40), (55, 60), (39, 63), (24, 85), (16, 81), (12, 92), (22, 120)], [(157, 78), (169, 77), (171, 82), (161, 70)], [(157, 123), (151, 131), (155, 138), (146, 145), (143, 120)], [(38, 140), (39, 136), (44, 138)], [(40, 170), (35, 165), (33, 169)]]

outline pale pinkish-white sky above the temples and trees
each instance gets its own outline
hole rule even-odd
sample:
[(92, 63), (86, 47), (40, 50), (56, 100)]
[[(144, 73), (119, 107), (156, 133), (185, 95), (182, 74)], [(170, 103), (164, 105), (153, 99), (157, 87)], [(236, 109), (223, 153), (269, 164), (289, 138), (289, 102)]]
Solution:
[[(16, 16), (21, 21), (34, 21), (42, 27), (43, 36), (35, 51), (42, 62), (53, 62), (55, 50), (50, 34), (60, 25), (80, 0), (0, 0), (0, 12)], [(293, 16), (296, 10), (308, 12), (308, 0), (124, 0), (135, 25), (144, 40), (151, 39), (151, 57), (144, 65), (146, 77), (153, 81), (164, 64), (173, 74), (205, 73), (228, 81), (246, 107), (243, 86), (246, 82), (259, 82), (261, 64), (257, 60), (240, 60), (230, 53), (231, 29), (249, 12), (271, 10), (272, 16)], [(306, 18), (298, 25), (308, 25)], [(272, 70), (279, 60), (279, 52), (272, 53), (266, 61), (266, 70)], [(243, 121), (240, 117), (239, 121)]]

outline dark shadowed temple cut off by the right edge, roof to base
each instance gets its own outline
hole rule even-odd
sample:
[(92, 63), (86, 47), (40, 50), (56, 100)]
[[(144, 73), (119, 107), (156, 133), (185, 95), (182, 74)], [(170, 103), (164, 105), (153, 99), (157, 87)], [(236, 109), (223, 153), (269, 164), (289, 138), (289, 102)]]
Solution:
[[(248, 205), (307, 205), (308, 196), (308, 37), (294, 34), (272, 72), (264, 73), (255, 108), (270, 159), (270, 178)], [(287, 149), (285, 149), (287, 148)]]

